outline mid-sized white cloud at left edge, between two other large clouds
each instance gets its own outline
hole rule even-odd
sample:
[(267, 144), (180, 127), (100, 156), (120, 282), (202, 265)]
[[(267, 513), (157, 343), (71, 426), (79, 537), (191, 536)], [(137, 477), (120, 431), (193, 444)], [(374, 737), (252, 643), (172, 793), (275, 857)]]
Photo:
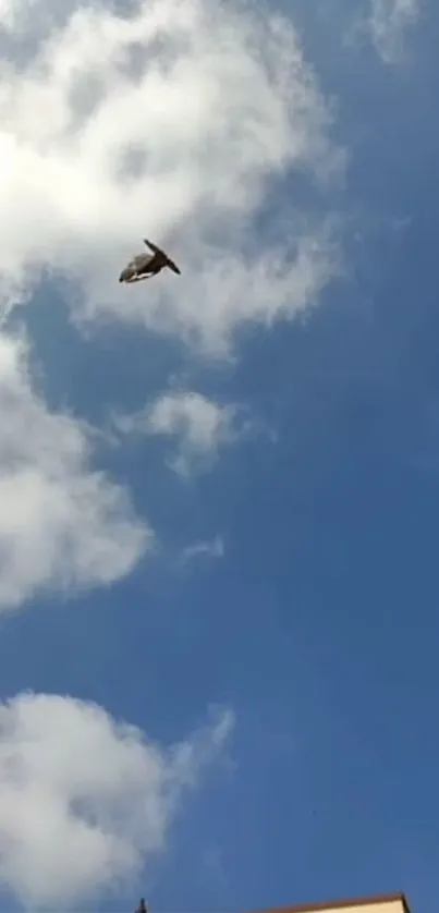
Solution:
[(110, 584), (151, 544), (124, 489), (89, 466), (89, 429), (50, 412), (26, 344), (0, 334), (0, 611), (47, 588)]

